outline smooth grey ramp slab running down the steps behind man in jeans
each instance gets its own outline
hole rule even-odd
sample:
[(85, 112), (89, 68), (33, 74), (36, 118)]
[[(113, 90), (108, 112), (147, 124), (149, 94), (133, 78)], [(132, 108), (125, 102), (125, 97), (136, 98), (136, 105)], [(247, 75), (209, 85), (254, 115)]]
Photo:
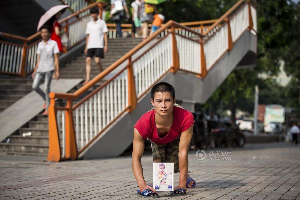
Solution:
[[(82, 82), (83, 79), (52, 80), (51, 92), (66, 93)], [(44, 84), (40, 86), (44, 90)], [(35, 91), (0, 113), (0, 142), (19, 130), (24, 124), (43, 111), (44, 99)]]

